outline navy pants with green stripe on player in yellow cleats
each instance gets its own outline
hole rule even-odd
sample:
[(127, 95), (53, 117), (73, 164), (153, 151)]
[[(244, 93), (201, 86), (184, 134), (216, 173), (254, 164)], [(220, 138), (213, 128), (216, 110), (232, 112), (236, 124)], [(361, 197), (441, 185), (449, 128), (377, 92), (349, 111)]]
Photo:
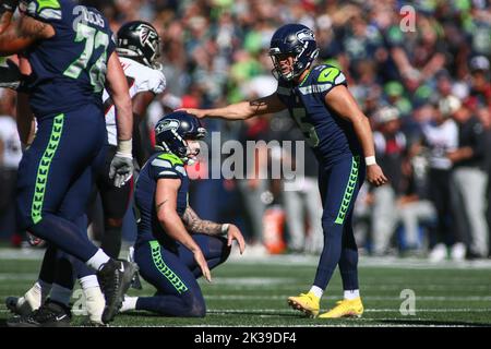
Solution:
[(324, 248), (314, 285), (323, 290), (337, 265), (343, 288), (358, 289), (358, 249), (352, 230), (352, 209), (364, 176), (366, 165), (360, 156), (340, 159), (330, 168), (319, 170)]

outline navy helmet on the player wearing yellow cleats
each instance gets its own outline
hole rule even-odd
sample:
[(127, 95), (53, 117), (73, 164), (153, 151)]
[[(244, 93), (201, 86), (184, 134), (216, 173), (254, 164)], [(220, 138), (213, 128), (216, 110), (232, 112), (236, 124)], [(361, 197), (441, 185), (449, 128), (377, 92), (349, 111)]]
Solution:
[[(282, 73), (278, 56), (292, 55), (294, 70)], [(309, 69), (319, 56), (319, 48), (314, 33), (302, 24), (285, 24), (279, 27), (271, 39), (270, 57), (275, 67), (273, 75), (278, 74), (290, 81)], [(275, 74), (276, 72), (276, 74)]]

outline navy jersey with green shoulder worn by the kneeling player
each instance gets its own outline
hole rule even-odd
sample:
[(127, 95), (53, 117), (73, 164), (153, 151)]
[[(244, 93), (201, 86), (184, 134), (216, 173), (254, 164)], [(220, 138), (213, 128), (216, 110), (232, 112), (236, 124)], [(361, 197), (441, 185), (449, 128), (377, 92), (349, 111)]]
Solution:
[(178, 215), (182, 216), (188, 206), (189, 178), (182, 160), (171, 153), (156, 153), (151, 156), (140, 172), (134, 191), (136, 207), (140, 212), (137, 241), (158, 240), (168, 245), (175, 242), (158, 222), (155, 209), (155, 191), (160, 178), (181, 180), (177, 197)]

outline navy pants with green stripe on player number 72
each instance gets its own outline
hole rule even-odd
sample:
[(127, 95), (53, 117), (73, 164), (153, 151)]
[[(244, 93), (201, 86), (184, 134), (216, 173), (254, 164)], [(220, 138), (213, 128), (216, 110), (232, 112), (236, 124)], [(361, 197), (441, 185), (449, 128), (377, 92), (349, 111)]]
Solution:
[(86, 262), (97, 248), (73, 221), (85, 214), (93, 171), (104, 161), (104, 115), (88, 105), (43, 118), (19, 168), (21, 227)]

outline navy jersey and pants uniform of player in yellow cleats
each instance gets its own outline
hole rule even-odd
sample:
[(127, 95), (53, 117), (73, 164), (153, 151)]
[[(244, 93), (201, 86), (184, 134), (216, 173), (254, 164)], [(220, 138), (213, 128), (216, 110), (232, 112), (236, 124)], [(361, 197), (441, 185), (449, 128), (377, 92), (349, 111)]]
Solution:
[(352, 290), (358, 289), (352, 209), (364, 180), (366, 165), (352, 124), (324, 101), (338, 85), (347, 86), (343, 72), (323, 64), (313, 68), (298, 85), (280, 79), (276, 93), (303, 132), (320, 166), (324, 249), (314, 285), (325, 289), (339, 265), (345, 290)]

